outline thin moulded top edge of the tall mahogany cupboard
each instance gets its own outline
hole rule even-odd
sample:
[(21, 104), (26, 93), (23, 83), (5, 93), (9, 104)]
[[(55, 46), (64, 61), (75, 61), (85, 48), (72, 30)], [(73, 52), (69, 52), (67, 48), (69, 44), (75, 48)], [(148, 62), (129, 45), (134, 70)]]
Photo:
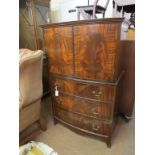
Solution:
[(41, 25), (41, 27), (48, 28), (48, 27), (58, 27), (58, 26), (74, 26), (74, 25), (82, 25), (82, 24), (112, 23), (112, 22), (115, 22), (115, 23), (125, 22), (129, 24), (129, 21), (126, 18), (104, 18), (104, 19), (91, 19), (91, 20), (79, 20), (79, 21), (52, 23), (52, 24)]

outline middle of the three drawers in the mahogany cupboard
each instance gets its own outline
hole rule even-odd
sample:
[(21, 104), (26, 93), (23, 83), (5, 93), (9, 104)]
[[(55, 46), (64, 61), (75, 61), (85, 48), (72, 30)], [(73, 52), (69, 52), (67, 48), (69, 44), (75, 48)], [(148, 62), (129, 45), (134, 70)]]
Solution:
[(79, 97), (73, 97), (60, 93), (58, 97), (53, 97), (57, 107), (83, 115), (109, 120), (112, 118), (112, 104), (104, 102), (94, 102)]

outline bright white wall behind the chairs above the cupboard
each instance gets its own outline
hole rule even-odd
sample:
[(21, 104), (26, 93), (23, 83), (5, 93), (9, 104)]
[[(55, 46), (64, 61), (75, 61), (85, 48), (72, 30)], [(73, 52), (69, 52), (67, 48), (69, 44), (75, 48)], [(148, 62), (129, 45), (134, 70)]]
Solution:
[[(92, 4), (94, 0), (90, 0)], [(104, 6), (105, 0), (100, 0), (99, 4)], [(52, 22), (64, 22), (77, 20), (77, 12), (69, 13), (70, 9), (74, 9), (79, 5), (88, 5), (88, 0), (51, 0), (51, 17)], [(105, 17), (112, 17), (112, 0), (110, 0)]]

